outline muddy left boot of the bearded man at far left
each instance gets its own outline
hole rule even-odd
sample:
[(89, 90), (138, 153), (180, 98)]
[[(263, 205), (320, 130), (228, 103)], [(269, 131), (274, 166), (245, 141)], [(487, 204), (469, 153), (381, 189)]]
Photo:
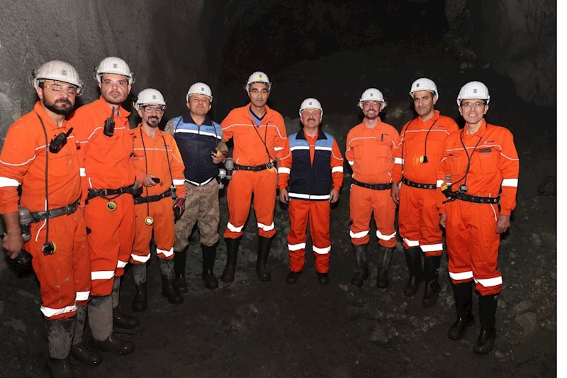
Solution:
[(71, 362), (69, 362), (75, 318), (64, 321), (52, 321), (49, 318), (44, 318), (44, 320), (50, 354), (45, 362), (45, 370), (48, 374), (51, 374), (52, 378), (77, 377), (73, 372)]

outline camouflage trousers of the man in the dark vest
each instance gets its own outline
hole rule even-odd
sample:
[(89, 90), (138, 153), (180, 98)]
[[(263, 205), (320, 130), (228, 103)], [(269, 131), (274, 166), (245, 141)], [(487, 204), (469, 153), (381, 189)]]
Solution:
[(182, 251), (189, 245), (189, 236), (198, 224), (202, 245), (210, 247), (218, 242), (218, 182), (210, 180), (202, 187), (185, 183), (185, 212), (175, 223), (174, 250)]

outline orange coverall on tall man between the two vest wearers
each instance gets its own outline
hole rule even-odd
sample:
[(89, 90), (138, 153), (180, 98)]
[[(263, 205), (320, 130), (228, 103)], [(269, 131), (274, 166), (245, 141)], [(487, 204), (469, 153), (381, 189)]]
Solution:
[[(249, 109), (250, 104), (233, 109), (220, 126), (223, 128), (225, 141), (234, 138), (232, 158), (235, 164), (266, 165), (269, 161), (281, 157), (281, 150), (287, 139), (286, 125), (281, 114), (266, 105), (262, 123), (256, 126)], [(242, 228), (250, 212), (252, 194), (258, 235), (264, 238), (275, 235), (276, 177), (275, 166), (259, 172), (237, 170), (232, 174), (227, 191), (229, 218), (225, 238), (235, 239), (242, 235)]]

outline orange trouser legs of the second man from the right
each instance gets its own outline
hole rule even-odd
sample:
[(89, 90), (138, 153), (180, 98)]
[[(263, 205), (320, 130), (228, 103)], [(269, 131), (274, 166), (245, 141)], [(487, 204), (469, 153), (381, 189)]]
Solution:
[(398, 228), (404, 248), (419, 246), (426, 256), (440, 256), (443, 233), (439, 228), (437, 191), (402, 184)]

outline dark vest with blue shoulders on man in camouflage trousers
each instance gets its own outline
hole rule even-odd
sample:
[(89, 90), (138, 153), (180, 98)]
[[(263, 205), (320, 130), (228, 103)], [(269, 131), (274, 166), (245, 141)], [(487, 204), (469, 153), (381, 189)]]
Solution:
[(218, 165), (210, 152), (220, 142), (220, 125), (208, 116), (197, 126), (189, 112), (173, 118), (174, 138), (185, 165), (185, 179), (193, 185), (204, 185), (218, 175)]

